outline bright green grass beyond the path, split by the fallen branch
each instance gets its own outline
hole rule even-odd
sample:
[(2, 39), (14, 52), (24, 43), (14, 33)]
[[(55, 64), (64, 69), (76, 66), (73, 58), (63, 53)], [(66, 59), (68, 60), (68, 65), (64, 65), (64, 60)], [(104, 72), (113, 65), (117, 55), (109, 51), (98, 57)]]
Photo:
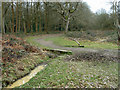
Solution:
[[(70, 46), (70, 45), (77, 46), (76, 42), (69, 40), (67, 37), (64, 37), (64, 36), (49, 37), (49, 38), (46, 38), (45, 40), (53, 41), (53, 43), (59, 46)], [(95, 42), (95, 41), (89, 41), (89, 40), (81, 40), (79, 42), (82, 46), (85, 46), (85, 48), (118, 49), (117, 44), (110, 43), (110, 42)]]

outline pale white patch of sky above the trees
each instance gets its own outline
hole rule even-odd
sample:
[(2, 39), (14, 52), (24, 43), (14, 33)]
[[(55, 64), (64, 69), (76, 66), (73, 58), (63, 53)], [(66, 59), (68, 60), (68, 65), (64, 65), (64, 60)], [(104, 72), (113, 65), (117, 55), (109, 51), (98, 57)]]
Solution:
[(87, 4), (90, 6), (91, 11), (93, 11), (94, 13), (101, 8), (105, 9), (107, 13), (110, 13), (111, 4), (109, 2), (112, 1), (114, 0), (83, 0), (83, 2), (87, 2)]

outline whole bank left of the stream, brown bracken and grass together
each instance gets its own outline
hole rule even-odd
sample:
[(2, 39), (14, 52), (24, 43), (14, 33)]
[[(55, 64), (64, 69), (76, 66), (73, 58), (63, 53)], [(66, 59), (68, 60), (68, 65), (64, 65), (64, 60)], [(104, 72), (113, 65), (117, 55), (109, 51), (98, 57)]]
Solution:
[(1, 42), (3, 87), (30, 73), (37, 65), (50, 60), (48, 52), (44, 53), (42, 49), (15, 35), (3, 35)]

